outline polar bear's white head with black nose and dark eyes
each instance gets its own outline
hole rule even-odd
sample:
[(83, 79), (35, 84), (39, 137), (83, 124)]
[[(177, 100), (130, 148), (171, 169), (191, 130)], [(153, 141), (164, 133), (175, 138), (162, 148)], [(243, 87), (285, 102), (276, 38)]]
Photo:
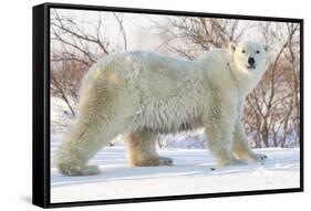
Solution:
[(260, 74), (267, 70), (268, 48), (258, 42), (229, 43), (229, 52), (239, 71), (248, 74)]

